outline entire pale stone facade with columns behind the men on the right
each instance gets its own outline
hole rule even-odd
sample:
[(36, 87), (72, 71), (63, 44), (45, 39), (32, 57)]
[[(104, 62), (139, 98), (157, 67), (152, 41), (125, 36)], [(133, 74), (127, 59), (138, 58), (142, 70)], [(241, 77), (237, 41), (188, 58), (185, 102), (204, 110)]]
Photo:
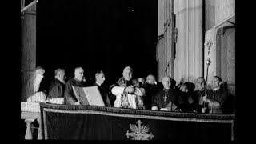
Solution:
[[(223, 36), (217, 33), (222, 27), (234, 26), (234, 10), (234, 0), (158, 0), (158, 36), (162, 36), (158, 41), (161, 45), (157, 47), (158, 81), (162, 81), (164, 75), (170, 75), (177, 82), (195, 82), (199, 76), (206, 78), (206, 60), (210, 58), (207, 83), (210, 85), (214, 75), (218, 75), (234, 94), (235, 29), (225, 29), (226, 34), (222, 30)], [(166, 28), (166, 22), (175, 23)], [(175, 34), (171, 35), (175, 28), (177, 39)], [(207, 42), (212, 45), (206, 46)], [(222, 46), (216, 49), (216, 45)]]

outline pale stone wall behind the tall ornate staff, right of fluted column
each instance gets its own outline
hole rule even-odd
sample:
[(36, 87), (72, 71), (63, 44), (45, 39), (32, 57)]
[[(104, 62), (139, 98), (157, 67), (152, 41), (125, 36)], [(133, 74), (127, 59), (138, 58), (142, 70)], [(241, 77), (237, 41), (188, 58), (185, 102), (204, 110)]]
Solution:
[[(221, 47), (221, 42), (219, 42), (221, 39), (216, 39), (218, 35), (221, 35), (222, 33), (218, 32), (218, 28), (222, 27), (222, 22), (226, 20), (226, 18), (229, 18), (230, 15), (235, 14), (235, 1), (234, 0), (206, 0), (206, 18), (205, 18), (205, 40), (204, 40), (204, 59), (206, 61), (207, 58), (210, 58), (211, 64), (209, 66), (208, 71), (208, 84), (211, 84), (211, 80), (214, 77), (214, 75), (222, 76), (221, 72), (221, 65), (220, 59), (222, 56), (219, 56)], [(212, 46), (210, 46), (210, 50), (208, 49), (208, 46), (206, 46), (206, 43), (209, 43), (209, 41), (212, 42)], [(219, 44), (218, 44), (219, 43)], [(222, 42), (223, 43), (223, 42)], [(234, 51), (232, 51), (232, 54)], [(224, 61), (222, 61), (224, 62)], [(206, 71), (207, 66), (204, 62), (204, 75), (206, 78)], [(223, 80), (226, 79), (226, 76)], [(234, 82), (232, 82), (234, 83)]]

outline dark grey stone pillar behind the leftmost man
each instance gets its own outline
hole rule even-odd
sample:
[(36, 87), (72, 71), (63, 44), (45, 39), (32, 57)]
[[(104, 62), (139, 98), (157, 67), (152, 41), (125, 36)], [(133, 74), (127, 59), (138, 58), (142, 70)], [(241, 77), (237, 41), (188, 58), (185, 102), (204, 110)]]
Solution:
[(33, 76), (36, 67), (36, 4), (25, 10), (21, 19), (21, 102), (29, 97), (26, 82)]

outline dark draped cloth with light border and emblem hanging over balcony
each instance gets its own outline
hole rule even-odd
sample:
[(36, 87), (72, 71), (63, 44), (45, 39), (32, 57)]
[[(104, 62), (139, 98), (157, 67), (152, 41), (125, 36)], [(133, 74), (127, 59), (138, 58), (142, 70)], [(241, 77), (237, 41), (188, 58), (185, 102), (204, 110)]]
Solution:
[(234, 140), (234, 114), (40, 103), (43, 139)]

